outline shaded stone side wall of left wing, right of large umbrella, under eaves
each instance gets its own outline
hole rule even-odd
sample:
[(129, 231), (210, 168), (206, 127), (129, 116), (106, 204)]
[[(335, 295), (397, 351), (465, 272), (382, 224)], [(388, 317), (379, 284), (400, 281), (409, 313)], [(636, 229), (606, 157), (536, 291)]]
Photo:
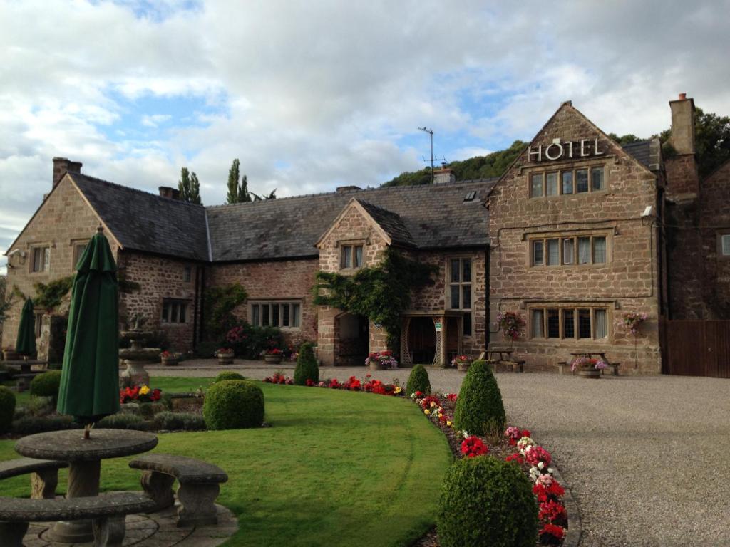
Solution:
[[(193, 349), (193, 327), (199, 324), (199, 302), (196, 299), (196, 275), (202, 266), (190, 260), (144, 255), (139, 252), (121, 251), (118, 257), (120, 276), (128, 282), (136, 282), (139, 289), (120, 292), (119, 317), (123, 325), (129, 318), (141, 313), (147, 322), (145, 328), (159, 330), (175, 352)], [(191, 268), (191, 280), (184, 279), (185, 267)], [(188, 313), (184, 323), (162, 321), (162, 304), (166, 299), (187, 303)]]

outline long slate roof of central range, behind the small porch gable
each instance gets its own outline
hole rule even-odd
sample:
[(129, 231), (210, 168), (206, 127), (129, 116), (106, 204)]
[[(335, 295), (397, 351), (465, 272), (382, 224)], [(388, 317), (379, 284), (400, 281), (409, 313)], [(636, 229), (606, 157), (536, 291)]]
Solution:
[[(385, 187), (207, 208), (212, 260), (315, 257), (314, 247), (351, 198), (367, 203), (388, 233), (422, 249), (485, 246), (486, 195), (497, 179)], [(472, 201), (464, 201), (470, 191)], [(364, 205), (365, 206), (365, 205)], [(376, 211), (380, 209), (380, 211)], [(383, 212), (383, 210), (385, 210)], [(382, 224), (381, 224), (382, 225)]]

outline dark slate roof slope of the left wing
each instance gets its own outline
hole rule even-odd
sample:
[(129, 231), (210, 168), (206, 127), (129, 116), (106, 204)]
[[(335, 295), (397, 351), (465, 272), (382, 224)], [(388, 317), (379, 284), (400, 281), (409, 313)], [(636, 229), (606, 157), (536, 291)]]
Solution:
[(185, 201), (69, 173), (99, 217), (127, 249), (209, 260), (205, 209)]

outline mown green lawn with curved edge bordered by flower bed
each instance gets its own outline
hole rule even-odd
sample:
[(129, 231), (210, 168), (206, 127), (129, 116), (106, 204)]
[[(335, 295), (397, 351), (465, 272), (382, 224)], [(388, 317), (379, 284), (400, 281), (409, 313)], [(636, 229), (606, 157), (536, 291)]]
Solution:
[[(188, 391), (210, 379), (153, 384)], [(451, 456), (442, 433), (415, 405), (369, 393), (259, 385), (272, 427), (169, 433), (155, 449), (226, 470), (218, 501), (239, 519), (226, 546), (407, 546), (434, 525)], [(0, 459), (17, 457), (12, 445), (0, 441)], [(102, 489), (139, 489), (139, 472), (127, 461), (103, 462)], [(27, 496), (28, 477), (3, 481), (2, 490)]]

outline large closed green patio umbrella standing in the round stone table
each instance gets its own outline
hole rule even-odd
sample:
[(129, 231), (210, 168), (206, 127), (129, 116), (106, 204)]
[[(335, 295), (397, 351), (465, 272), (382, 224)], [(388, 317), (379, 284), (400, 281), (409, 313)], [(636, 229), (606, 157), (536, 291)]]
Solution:
[(117, 265), (109, 241), (97, 233), (77, 263), (71, 292), (58, 412), (85, 424), (119, 411)]

